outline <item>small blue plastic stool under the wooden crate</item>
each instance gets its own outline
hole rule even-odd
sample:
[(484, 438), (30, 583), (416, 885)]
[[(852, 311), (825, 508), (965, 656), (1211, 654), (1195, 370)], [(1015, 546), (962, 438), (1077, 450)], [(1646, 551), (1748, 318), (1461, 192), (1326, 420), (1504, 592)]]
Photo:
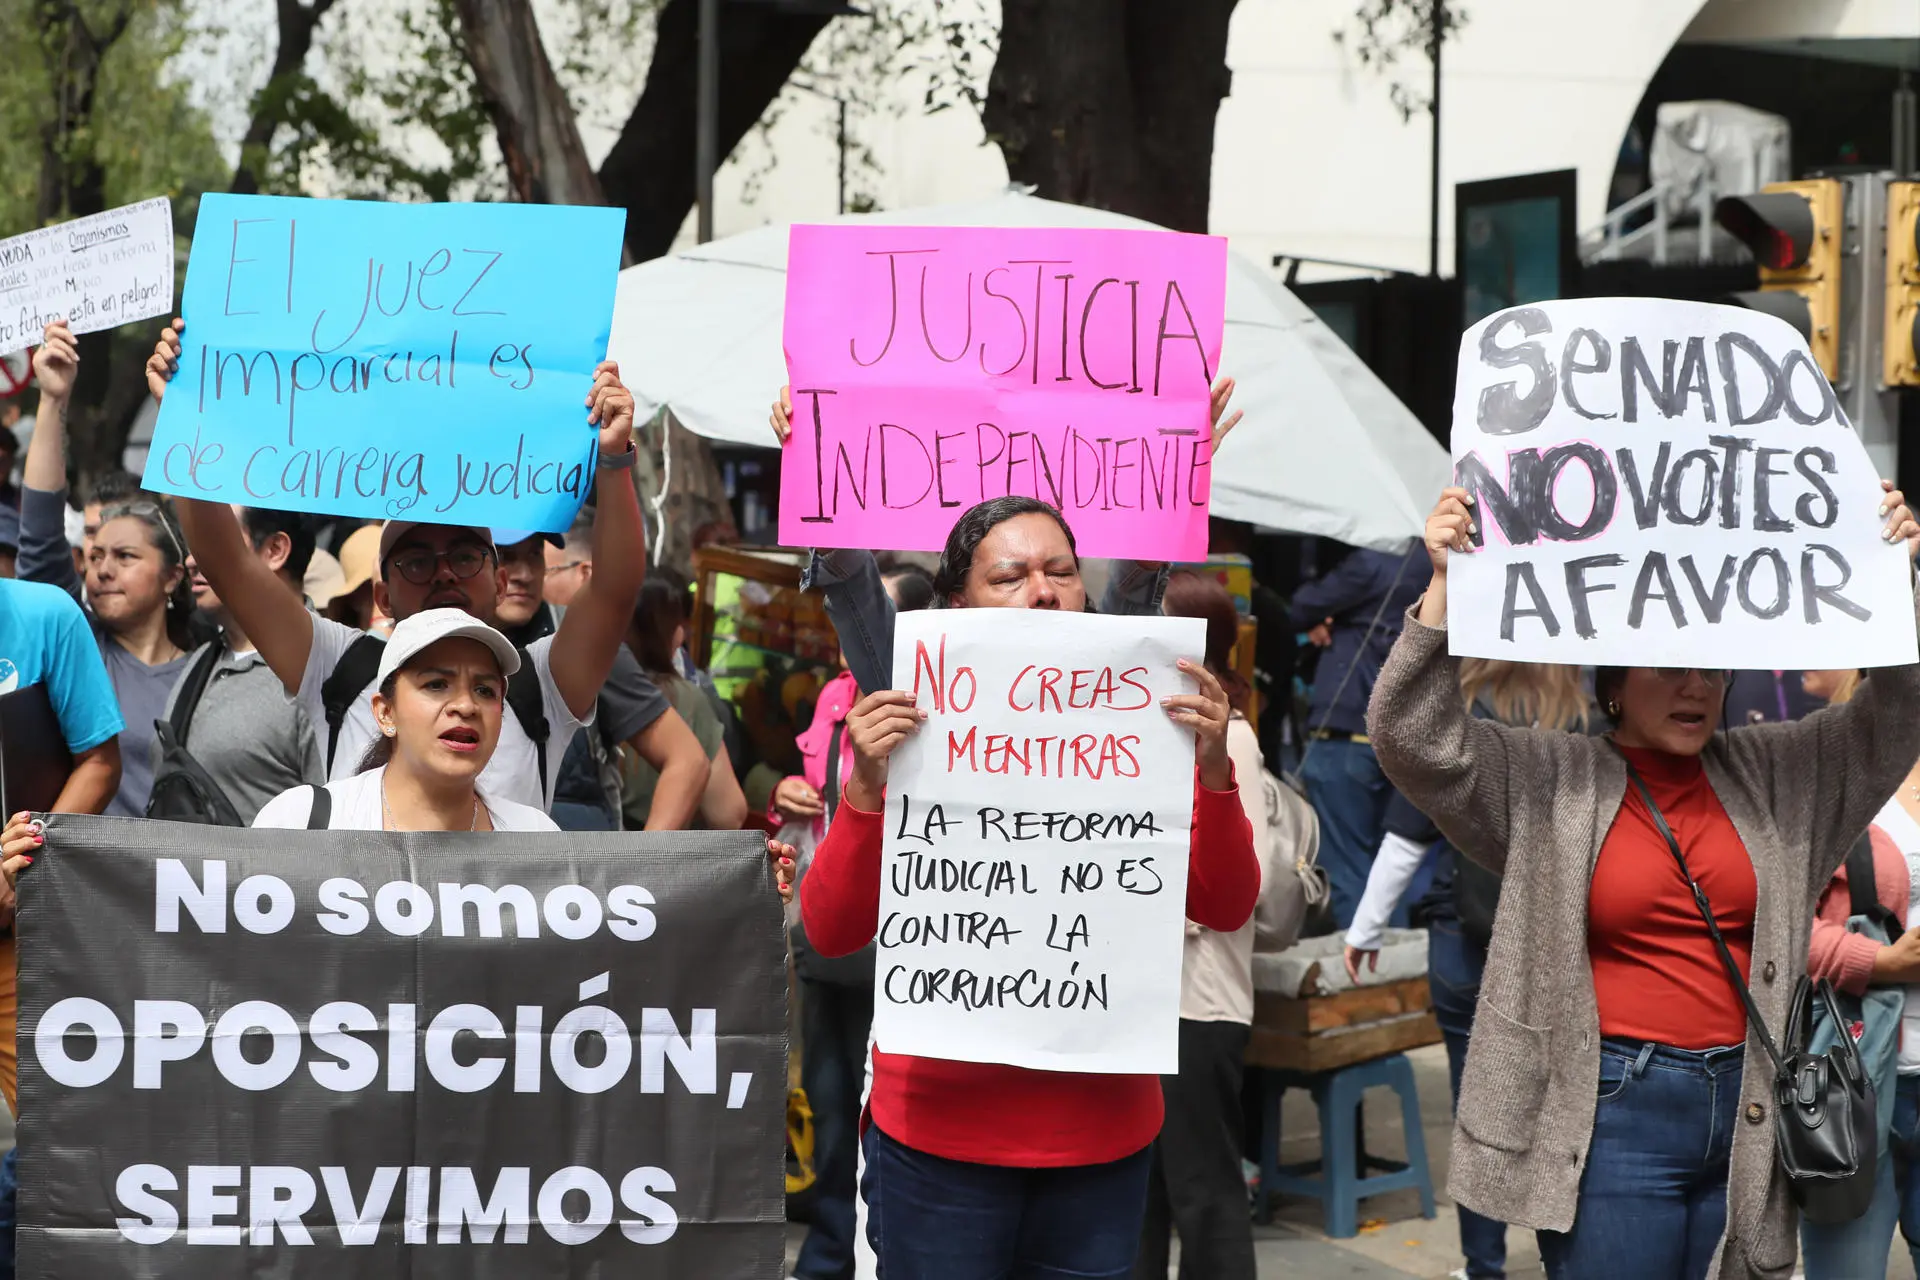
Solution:
[[(1359, 1201), (1382, 1192), (1417, 1188), (1421, 1215), (1434, 1217), (1434, 1184), (1427, 1171), (1427, 1130), (1421, 1126), (1421, 1100), (1413, 1090), (1413, 1063), (1405, 1054), (1336, 1071), (1273, 1071), (1263, 1075), (1260, 1126), (1260, 1209), (1258, 1221), (1273, 1221), (1273, 1194), (1309, 1196), (1327, 1209), (1327, 1234), (1346, 1240), (1359, 1234)], [(1400, 1094), (1400, 1123), (1407, 1136), (1407, 1159), (1392, 1161), (1367, 1153), (1361, 1132), (1361, 1098), (1369, 1088)], [(1321, 1117), (1321, 1159), (1300, 1165), (1281, 1163), (1281, 1098), (1290, 1088), (1313, 1094)], [(1379, 1171), (1379, 1173), (1369, 1173)]]

